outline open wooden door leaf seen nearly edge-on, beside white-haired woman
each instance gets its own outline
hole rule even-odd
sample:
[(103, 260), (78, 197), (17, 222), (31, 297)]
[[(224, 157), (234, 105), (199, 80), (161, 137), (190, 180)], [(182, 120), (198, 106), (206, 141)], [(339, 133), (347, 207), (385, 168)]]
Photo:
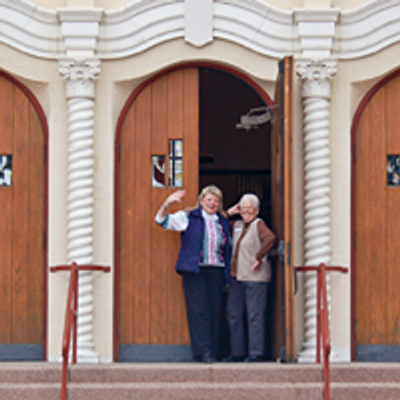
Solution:
[(279, 240), (272, 290), (274, 358), (294, 361), (294, 267), (292, 240), (293, 57), (279, 62), (272, 127), (272, 228)]

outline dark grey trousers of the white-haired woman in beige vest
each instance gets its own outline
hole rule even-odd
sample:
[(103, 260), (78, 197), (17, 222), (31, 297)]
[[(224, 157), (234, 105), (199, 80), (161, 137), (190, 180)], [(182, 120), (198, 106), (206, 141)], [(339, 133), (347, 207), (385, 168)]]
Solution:
[[(266, 282), (241, 282), (231, 278), (228, 294), (228, 323), (231, 336), (231, 355), (262, 356), (265, 345)], [(244, 317), (247, 313), (247, 334)]]

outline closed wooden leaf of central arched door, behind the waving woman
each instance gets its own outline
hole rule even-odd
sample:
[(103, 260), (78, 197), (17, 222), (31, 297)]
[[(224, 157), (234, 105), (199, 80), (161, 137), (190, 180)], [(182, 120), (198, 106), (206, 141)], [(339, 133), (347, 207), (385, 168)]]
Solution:
[(198, 87), (197, 68), (164, 74), (133, 93), (121, 116), (115, 216), (115, 352), (121, 361), (190, 358), (181, 279), (174, 272), (180, 236), (157, 226), (154, 216), (180, 186), (187, 191), (183, 207), (196, 202)]

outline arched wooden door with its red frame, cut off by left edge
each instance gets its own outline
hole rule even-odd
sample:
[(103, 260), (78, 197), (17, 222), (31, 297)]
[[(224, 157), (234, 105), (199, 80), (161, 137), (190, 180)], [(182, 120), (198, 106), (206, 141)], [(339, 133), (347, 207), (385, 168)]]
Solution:
[(46, 128), (39, 108), (0, 72), (0, 360), (44, 355)]

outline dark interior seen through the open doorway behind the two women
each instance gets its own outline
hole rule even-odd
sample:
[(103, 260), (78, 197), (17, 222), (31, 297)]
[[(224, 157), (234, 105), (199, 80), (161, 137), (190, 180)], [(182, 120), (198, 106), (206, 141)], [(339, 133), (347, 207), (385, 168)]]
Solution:
[[(225, 210), (244, 193), (257, 194), (261, 200), (260, 217), (269, 224), (271, 123), (248, 131), (236, 127), (241, 115), (265, 105), (262, 97), (240, 78), (214, 68), (200, 69), (200, 188), (208, 184), (217, 185), (224, 193)], [(271, 282), (270, 305), (274, 292), (274, 282)], [(273, 307), (269, 306), (266, 318), (267, 359), (272, 359), (272, 312)], [(221, 324), (220, 358), (223, 358), (229, 354), (225, 315)]]

